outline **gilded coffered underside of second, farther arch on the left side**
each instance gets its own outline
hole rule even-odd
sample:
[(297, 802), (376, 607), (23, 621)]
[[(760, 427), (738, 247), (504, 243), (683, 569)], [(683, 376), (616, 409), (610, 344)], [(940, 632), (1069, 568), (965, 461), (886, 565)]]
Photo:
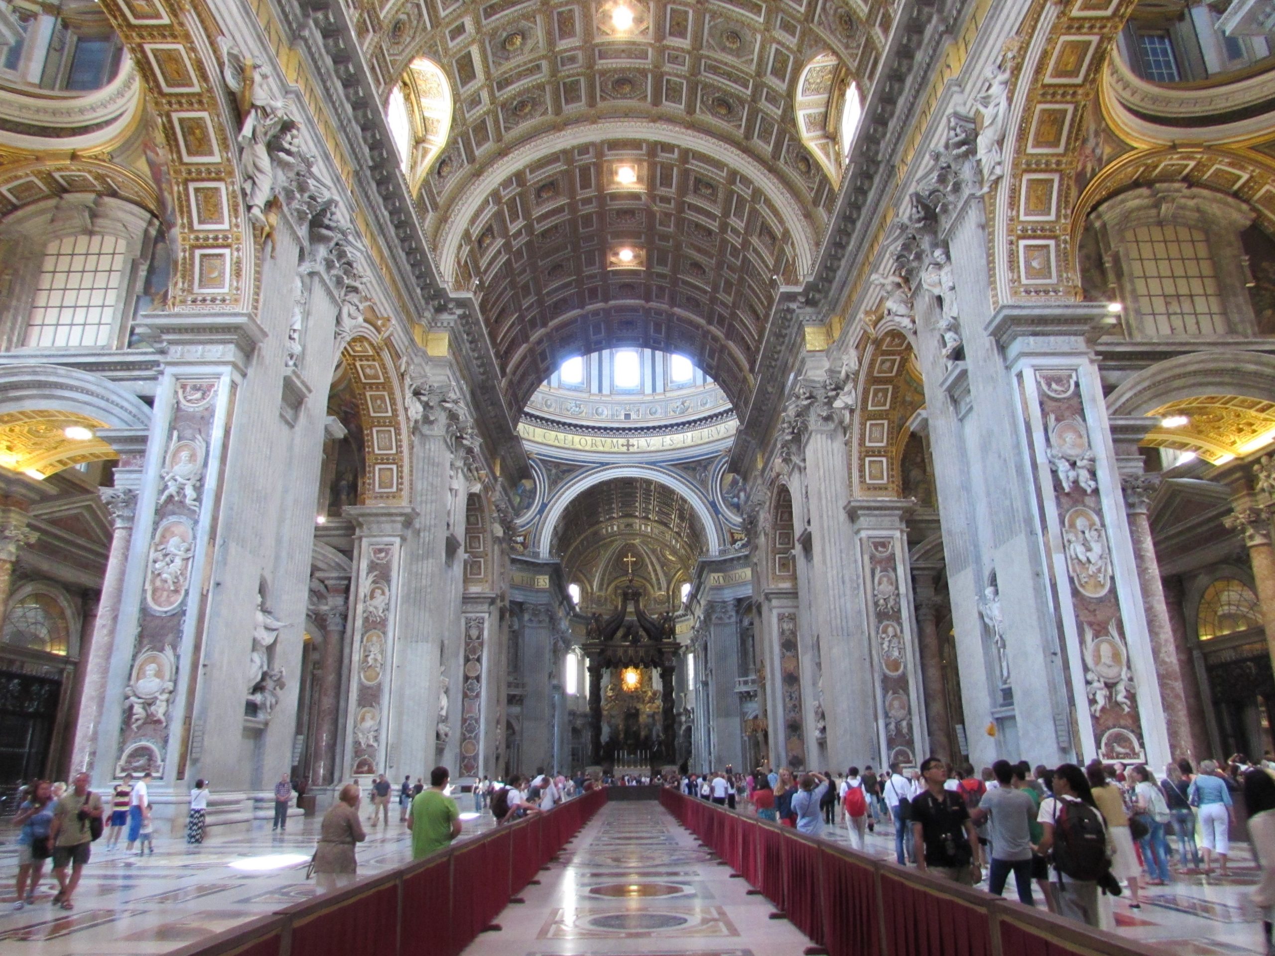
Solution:
[(398, 362), (384, 342), (356, 331), (340, 351), (363, 418), (365, 505), (405, 505), (411, 487)]

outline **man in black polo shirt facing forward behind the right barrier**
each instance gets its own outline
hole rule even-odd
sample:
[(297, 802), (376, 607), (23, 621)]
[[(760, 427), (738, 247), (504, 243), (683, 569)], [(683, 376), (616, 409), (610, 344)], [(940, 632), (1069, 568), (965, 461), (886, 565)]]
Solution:
[(912, 839), (917, 869), (963, 886), (983, 878), (983, 853), (969, 808), (960, 794), (943, 788), (947, 767), (938, 757), (921, 764), (926, 789), (912, 800)]

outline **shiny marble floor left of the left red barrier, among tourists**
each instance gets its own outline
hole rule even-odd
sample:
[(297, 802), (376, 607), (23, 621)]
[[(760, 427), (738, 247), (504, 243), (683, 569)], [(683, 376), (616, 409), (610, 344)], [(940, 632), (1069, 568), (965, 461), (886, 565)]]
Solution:
[[(465, 822), (465, 836), (491, 826), (491, 815), (486, 813), (482, 820)], [(34, 905), (11, 909), (17, 831), (0, 829), (0, 951), (5, 956), (150, 956), (176, 950), (310, 899), (315, 882), (305, 878), (305, 860), (314, 853), (317, 834), (319, 820), (312, 818), (292, 821), (287, 835), (272, 834), (268, 822), (258, 823), (252, 832), (212, 831), (201, 846), (157, 835), (154, 855), (144, 858), (108, 851), (103, 839), (93, 844), (93, 859), (75, 892), (75, 910), (62, 913), (50, 905), (57, 885), (47, 867)], [(367, 843), (358, 849), (361, 877), (412, 859), (404, 823), (395, 820), (367, 834)], [(295, 854), (301, 862), (265, 872), (229, 865), (274, 854)]]

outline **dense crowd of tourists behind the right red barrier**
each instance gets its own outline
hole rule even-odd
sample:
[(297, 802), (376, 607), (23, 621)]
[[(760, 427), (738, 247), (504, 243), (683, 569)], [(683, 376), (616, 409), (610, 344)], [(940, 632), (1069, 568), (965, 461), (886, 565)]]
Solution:
[[(1020, 902), (1099, 925), (1103, 894), (1141, 909), (1142, 886), (1174, 877), (1225, 876), (1235, 794), (1262, 867), (1253, 901), (1267, 939), (1275, 919), (1275, 762), (1224, 766), (1182, 760), (1163, 774), (1093, 761), (1031, 767), (996, 761), (975, 772), (936, 757), (917, 769), (849, 767), (845, 774), (757, 769), (688, 774), (683, 793), (810, 836), (845, 829), (866, 849), (868, 832), (894, 837), (894, 858), (932, 876), (1001, 895), (1009, 878)], [(1170, 843), (1169, 837), (1174, 837)]]

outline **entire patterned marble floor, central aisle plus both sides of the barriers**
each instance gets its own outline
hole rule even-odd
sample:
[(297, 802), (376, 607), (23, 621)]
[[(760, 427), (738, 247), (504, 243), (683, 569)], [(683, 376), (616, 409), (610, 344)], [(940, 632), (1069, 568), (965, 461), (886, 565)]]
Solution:
[[(462, 839), (490, 829), (491, 816), (464, 826)], [(13, 832), (0, 831), (0, 952), (149, 956), (229, 929), (314, 894), (305, 863), (316, 832), (317, 820), (293, 820), (282, 836), (259, 823), (254, 832), (213, 835), (203, 846), (157, 840), (154, 855), (142, 858), (107, 851), (103, 840), (94, 845), (75, 910), (62, 913), (48, 905), (55, 885), (47, 874), (37, 902), (13, 911), (17, 850)], [(411, 858), (398, 820), (368, 834), (358, 850), (361, 876)], [(844, 827), (829, 827), (826, 839), (845, 843)], [(887, 825), (868, 836), (867, 850), (894, 858)], [(1174, 956), (1262, 953), (1260, 916), (1247, 902), (1257, 868), (1246, 845), (1233, 846), (1232, 863), (1234, 874), (1225, 881), (1178, 877), (1172, 886), (1144, 888), (1141, 910), (1130, 909), (1127, 897), (1108, 900), (1108, 924), (1140, 942), (1172, 941)], [(465, 953), (801, 953), (808, 941), (785, 920), (769, 919), (774, 908), (747, 888), (658, 804), (611, 803), (541, 873), (541, 883), (524, 890), (525, 904), (499, 916), (502, 932), (482, 934)]]

